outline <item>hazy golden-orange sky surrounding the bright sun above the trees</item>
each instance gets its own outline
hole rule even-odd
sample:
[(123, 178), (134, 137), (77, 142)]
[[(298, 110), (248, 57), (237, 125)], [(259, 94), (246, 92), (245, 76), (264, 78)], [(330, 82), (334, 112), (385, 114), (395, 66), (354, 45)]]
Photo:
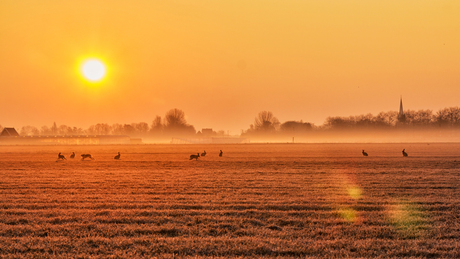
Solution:
[[(263, 110), (327, 116), (460, 103), (458, 0), (0, 2), (0, 125), (147, 122), (239, 134)], [(84, 58), (107, 76), (89, 83)]]

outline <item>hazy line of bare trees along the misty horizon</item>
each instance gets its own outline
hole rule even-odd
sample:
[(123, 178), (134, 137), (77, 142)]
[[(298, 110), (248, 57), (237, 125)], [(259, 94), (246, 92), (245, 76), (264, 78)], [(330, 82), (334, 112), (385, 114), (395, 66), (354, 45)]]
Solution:
[[(355, 129), (390, 129), (390, 128), (460, 128), (460, 108), (447, 107), (434, 113), (432, 110), (407, 110), (404, 118), (398, 112), (380, 112), (377, 115), (363, 114), (357, 116), (330, 116), (321, 126), (310, 122), (286, 121), (281, 123), (272, 112), (261, 111), (254, 119), (249, 129), (244, 130), (242, 136), (271, 135), (278, 133), (308, 133), (310, 131), (339, 131)], [(0, 130), (3, 127), (0, 126)], [(128, 135), (132, 137), (171, 137), (171, 136), (196, 136), (195, 127), (187, 123), (184, 111), (174, 108), (169, 110), (164, 117), (156, 116), (151, 124), (146, 122), (109, 125), (97, 123), (87, 129), (58, 126), (54, 123), (51, 127), (24, 126), (19, 130), (22, 136), (33, 135)], [(213, 132), (213, 135), (224, 135), (223, 131)]]

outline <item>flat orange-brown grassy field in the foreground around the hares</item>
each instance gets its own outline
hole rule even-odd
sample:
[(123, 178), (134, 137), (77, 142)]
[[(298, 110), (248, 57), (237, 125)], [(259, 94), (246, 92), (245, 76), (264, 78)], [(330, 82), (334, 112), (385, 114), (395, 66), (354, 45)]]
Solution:
[(0, 146), (0, 258), (459, 258), (459, 179), (460, 144)]

